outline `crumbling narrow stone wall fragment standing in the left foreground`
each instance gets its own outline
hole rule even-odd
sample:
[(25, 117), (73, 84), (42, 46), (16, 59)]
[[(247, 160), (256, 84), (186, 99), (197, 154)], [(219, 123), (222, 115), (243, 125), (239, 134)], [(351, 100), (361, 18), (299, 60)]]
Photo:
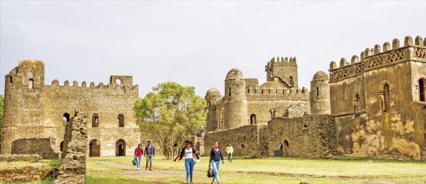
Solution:
[(87, 114), (76, 113), (65, 126), (63, 164), (54, 183), (85, 183)]

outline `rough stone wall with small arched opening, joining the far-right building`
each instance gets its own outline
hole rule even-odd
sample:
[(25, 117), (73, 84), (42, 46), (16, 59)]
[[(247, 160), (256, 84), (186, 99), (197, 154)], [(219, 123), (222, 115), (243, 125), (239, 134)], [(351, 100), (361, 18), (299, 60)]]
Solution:
[(333, 116), (276, 117), (268, 122), (267, 145), (271, 155), (283, 157), (330, 158), (337, 154)]

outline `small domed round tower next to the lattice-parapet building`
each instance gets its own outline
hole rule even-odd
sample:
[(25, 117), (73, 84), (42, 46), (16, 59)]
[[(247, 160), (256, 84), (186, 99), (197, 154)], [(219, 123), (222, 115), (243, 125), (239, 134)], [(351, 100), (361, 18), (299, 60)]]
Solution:
[(330, 114), (330, 84), (327, 73), (318, 71), (311, 81), (311, 115)]

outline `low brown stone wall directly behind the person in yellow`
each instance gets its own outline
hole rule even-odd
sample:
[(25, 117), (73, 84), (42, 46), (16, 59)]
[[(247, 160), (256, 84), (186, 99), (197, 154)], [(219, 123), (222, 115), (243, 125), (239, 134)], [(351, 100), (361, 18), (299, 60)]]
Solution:
[(225, 155), (225, 148), (228, 143), (234, 147), (234, 155), (251, 155), (260, 156), (258, 130), (264, 128), (262, 125), (247, 125), (239, 128), (223, 130), (218, 132), (208, 132), (204, 135), (204, 150), (205, 156), (210, 155), (210, 150), (214, 146), (214, 142), (221, 143), (223, 154)]

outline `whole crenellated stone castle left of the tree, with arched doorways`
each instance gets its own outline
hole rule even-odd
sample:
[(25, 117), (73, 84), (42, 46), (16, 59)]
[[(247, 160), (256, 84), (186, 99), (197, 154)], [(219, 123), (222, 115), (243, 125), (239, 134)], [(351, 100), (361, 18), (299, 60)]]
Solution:
[[(18, 139), (56, 139), (60, 149), (65, 122), (74, 111), (89, 113), (88, 154), (133, 154), (140, 141), (133, 105), (139, 95), (131, 76), (111, 76), (109, 84), (58, 80), (45, 85), (42, 61), (21, 60), (5, 76), (1, 154), (10, 154)], [(33, 152), (34, 154), (36, 152)]]

